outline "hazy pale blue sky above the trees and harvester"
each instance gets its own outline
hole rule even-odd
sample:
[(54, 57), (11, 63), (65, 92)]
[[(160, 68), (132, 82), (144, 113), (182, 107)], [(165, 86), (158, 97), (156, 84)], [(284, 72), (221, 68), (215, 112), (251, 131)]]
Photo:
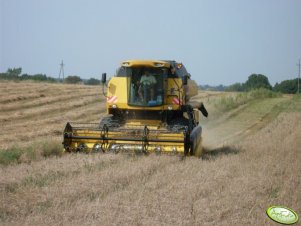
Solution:
[(198, 84), (298, 77), (301, 0), (0, 0), (0, 72), (114, 75), (129, 59), (182, 62)]

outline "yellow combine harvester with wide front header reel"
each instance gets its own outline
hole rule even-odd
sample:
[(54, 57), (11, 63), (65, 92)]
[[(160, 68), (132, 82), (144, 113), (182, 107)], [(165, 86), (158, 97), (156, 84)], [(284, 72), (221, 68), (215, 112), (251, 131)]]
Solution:
[[(102, 75), (106, 84), (106, 74)], [(107, 85), (107, 113), (99, 124), (67, 123), (66, 151), (183, 153), (200, 156), (201, 102), (182, 63), (128, 60)]]

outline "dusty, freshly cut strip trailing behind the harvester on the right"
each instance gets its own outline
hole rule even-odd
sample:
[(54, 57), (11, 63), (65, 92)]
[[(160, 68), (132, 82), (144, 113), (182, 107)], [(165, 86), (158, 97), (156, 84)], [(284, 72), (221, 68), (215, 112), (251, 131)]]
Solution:
[(233, 145), (264, 128), (291, 97), (268, 98), (227, 112), (213, 120), (203, 119), (204, 145), (211, 149)]

